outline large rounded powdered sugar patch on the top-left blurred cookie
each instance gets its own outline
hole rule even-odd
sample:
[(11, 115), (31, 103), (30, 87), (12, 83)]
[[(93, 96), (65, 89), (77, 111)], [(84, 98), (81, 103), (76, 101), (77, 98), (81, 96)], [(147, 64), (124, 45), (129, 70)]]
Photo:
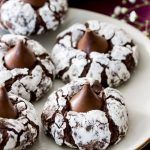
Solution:
[(31, 5), (20, 0), (10, 0), (1, 7), (1, 21), (10, 32), (28, 35), (35, 29), (36, 14)]

